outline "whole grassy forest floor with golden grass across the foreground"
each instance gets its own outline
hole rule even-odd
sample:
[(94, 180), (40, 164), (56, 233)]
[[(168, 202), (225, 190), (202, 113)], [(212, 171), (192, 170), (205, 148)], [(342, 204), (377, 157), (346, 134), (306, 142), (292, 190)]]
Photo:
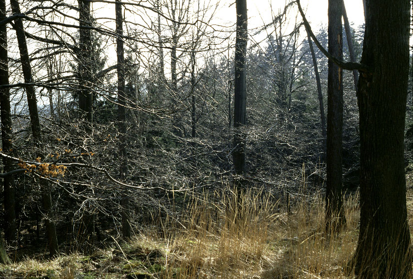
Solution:
[[(412, 173), (407, 178), (412, 226)], [(187, 205), (184, 216), (142, 229), (128, 242), (114, 241), (92, 255), (0, 265), (0, 278), (353, 278), (346, 266), (359, 234), (358, 192), (347, 195), (347, 226), (334, 239), (323, 233), (322, 196), (297, 197), (289, 208), (264, 194), (248, 192), (238, 202), (205, 194)]]

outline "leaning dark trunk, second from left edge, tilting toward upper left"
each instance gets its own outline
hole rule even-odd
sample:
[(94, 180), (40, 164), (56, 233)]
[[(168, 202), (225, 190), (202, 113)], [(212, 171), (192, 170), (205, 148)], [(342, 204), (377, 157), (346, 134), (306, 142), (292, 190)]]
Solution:
[[(11, 10), (13, 14), (20, 14), (20, 6), (17, 0), (10, 0), (10, 5), (11, 5)], [(24, 82), (26, 84), (30, 84), (33, 82), (33, 79), (32, 79), (32, 73), (31, 73), (30, 59), (28, 56), (26, 37), (24, 35), (23, 21), (21, 20), (21, 18), (17, 18), (14, 20), (14, 23), (15, 23), (18, 48), (20, 51), (21, 69), (23, 71)], [(36, 158), (39, 157), (40, 160), (43, 160), (44, 155), (43, 155), (43, 150), (42, 150), (43, 146), (42, 146), (42, 139), (41, 139), (41, 128), (40, 128), (39, 115), (37, 111), (36, 93), (32, 85), (26, 85), (25, 90), (27, 94), (27, 105), (28, 105), (28, 111), (29, 111), (29, 117), (30, 117), (31, 132), (33, 134), (33, 139), (34, 139), (34, 147), (37, 149)], [(45, 180), (40, 181), (40, 189), (41, 189), (40, 191), (41, 191), (42, 200), (43, 200), (43, 208), (44, 208), (45, 224), (46, 224), (46, 232), (47, 232), (50, 256), (54, 257), (59, 253), (59, 247), (57, 244), (56, 227), (54, 225), (54, 222), (52, 221), (53, 211), (52, 211), (50, 187), (47, 181)]]

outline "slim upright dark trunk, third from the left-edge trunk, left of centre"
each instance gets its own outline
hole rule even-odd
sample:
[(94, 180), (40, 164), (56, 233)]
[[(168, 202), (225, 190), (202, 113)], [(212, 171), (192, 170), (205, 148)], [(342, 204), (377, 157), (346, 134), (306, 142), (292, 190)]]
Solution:
[[(126, 99), (125, 99), (125, 56), (123, 49), (123, 14), (120, 0), (115, 3), (116, 13), (116, 55), (117, 55), (117, 92), (118, 92), (118, 125), (119, 125), (119, 176), (124, 179), (127, 171), (126, 158)], [(124, 238), (131, 237), (129, 218), (129, 196), (123, 193), (121, 197), (122, 206), (122, 235)]]

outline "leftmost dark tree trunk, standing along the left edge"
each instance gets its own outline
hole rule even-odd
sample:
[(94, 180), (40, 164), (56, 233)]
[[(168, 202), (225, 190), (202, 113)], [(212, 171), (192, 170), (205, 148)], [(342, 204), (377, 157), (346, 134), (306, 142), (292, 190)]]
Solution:
[[(0, 0), (0, 20), (6, 18), (5, 0)], [(0, 26), (0, 84), (8, 85), (8, 58), (7, 58), (7, 25)], [(1, 115), (1, 143), (3, 152), (11, 155), (12, 121), (10, 113), (10, 91), (8, 88), (0, 89), (0, 115)], [(3, 172), (13, 170), (13, 162), (3, 158)], [(14, 200), (14, 178), (12, 175), (3, 179), (4, 186), (4, 236), (9, 244), (16, 241), (16, 217)]]

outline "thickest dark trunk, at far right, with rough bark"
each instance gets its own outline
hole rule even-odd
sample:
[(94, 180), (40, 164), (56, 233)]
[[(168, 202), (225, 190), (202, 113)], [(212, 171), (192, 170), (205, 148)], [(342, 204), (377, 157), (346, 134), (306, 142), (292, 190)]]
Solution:
[(360, 278), (412, 278), (406, 209), (404, 132), (409, 76), (410, 0), (366, 0), (359, 81)]

